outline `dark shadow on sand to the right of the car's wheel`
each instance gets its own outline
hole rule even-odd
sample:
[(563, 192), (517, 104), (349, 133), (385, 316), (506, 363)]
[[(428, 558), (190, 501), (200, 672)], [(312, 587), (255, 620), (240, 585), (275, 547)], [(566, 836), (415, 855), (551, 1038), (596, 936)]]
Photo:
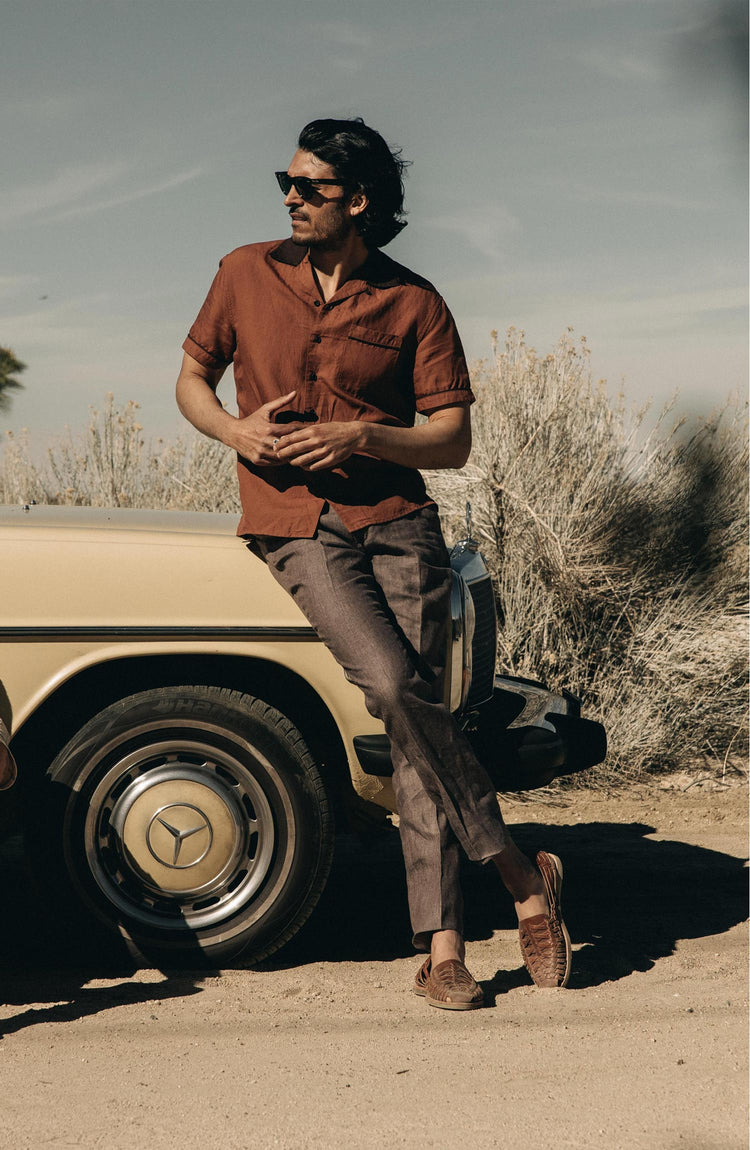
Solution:
[[(513, 827), (521, 850), (534, 856), (543, 845), (564, 861), (564, 913), (575, 949), (571, 987), (649, 971), (680, 940), (724, 934), (745, 920), (744, 859), (652, 834), (644, 822)], [(511, 898), (492, 866), (466, 864), (462, 887), (467, 941), (515, 929)], [(365, 843), (342, 836), (316, 912), (263, 967), (405, 958), (414, 953), (410, 938), (397, 833)], [(484, 987), (491, 999), (528, 983), (519, 959)]]

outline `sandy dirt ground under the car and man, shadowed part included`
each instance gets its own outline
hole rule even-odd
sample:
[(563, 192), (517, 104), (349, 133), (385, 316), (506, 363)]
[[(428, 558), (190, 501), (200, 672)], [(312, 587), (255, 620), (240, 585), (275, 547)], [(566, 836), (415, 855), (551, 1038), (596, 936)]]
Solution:
[(396, 833), (343, 836), (291, 946), (209, 976), (115, 967), (85, 940), (63, 967), (12, 839), (0, 1147), (747, 1147), (744, 790), (504, 808), (523, 848), (564, 859), (574, 974), (530, 984), (506, 896), (468, 867), (488, 998), (468, 1013), (410, 992)]

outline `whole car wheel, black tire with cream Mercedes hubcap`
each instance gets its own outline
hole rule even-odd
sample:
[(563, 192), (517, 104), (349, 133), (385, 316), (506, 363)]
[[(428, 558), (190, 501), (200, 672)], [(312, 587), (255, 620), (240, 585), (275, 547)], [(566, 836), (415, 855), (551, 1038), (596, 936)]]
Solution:
[(148, 965), (267, 958), (330, 869), (331, 807), (300, 733), (224, 688), (108, 706), (56, 756), (32, 808), (47, 888), (56, 897), (61, 879)]

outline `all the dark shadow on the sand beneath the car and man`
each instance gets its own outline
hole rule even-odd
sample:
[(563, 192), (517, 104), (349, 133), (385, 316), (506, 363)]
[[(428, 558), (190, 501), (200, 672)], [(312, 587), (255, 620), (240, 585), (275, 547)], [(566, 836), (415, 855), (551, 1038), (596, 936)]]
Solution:
[[(653, 831), (642, 822), (514, 826), (522, 850), (533, 854), (543, 844), (564, 860), (565, 920), (576, 948), (571, 987), (595, 987), (648, 971), (672, 954), (680, 940), (719, 935), (744, 921), (743, 859), (648, 838)], [(2, 998), (29, 1006), (0, 1021), (0, 1036), (37, 1022), (70, 1021), (125, 1003), (200, 991), (206, 971), (170, 973), (158, 983), (132, 982), (133, 963), (117, 941), (107, 941), (93, 927), (84, 933), (71, 926), (64, 937), (54, 931), (26, 883), (20, 841), (3, 844), (0, 873)], [(515, 927), (510, 897), (492, 867), (467, 864), (464, 892), (467, 940)], [(339, 836), (315, 913), (261, 968), (407, 958), (414, 953), (410, 940), (398, 833), (390, 828), (367, 838), (347, 834)], [(240, 958), (235, 965), (247, 964)], [(121, 981), (106, 989), (87, 988), (91, 979)], [(487, 998), (491, 1002), (528, 982), (519, 961), (484, 984)]]

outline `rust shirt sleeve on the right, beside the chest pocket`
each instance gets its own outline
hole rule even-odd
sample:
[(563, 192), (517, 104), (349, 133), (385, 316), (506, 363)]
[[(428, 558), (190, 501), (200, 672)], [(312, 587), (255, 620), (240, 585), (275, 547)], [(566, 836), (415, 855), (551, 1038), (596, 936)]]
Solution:
[(461, 339), (453, 316), (438, 296), (416, 345), (416, 411), (429, 414), (438, 407), (473, 404), (474, 398)]

